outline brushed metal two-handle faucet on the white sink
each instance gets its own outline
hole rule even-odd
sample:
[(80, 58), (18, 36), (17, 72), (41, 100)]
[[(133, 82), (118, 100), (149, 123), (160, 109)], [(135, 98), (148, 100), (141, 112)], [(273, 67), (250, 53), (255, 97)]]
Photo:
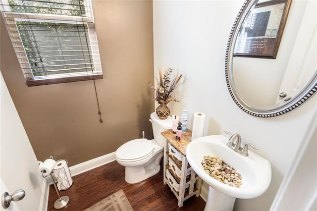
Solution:
[[(250, 144), (250, 143), (245, 143), (243, 145), (243, 147), (241, 147), (241, 139), (242, 137), (240, 136), (240, 134), (238, 133), (235, 133), (235, 134), (231, 134), (230, 132), (228, 131), (224, 131), (226, 134), (229, 134), (230, 135), (230, 138), (227, 142), (227, 146), (232, 149), (233, 151), (239, 153), (240, 155), (242, 156), (249, 156), (249, 153), (248, 153), (248, 146), (258, 150), (258, 148), (256, 146), (254, 146), (253, 144)], [(236, 142), (234, 142), (236, 140)]]

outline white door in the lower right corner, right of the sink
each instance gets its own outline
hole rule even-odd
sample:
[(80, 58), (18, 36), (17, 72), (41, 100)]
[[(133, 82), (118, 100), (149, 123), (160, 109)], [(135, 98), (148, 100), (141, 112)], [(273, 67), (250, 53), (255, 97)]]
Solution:
[(317, 211), (316, 149), (317, 108), (270, 211)]

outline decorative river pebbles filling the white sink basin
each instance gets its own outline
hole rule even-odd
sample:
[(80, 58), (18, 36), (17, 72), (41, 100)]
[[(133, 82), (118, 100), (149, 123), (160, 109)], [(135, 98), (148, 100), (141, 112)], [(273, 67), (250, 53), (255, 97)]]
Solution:
[(226, 185), (239, 188), (242, 185), (242, 176), (222, 158), (204, 156), (202, 165), (212, 178)]

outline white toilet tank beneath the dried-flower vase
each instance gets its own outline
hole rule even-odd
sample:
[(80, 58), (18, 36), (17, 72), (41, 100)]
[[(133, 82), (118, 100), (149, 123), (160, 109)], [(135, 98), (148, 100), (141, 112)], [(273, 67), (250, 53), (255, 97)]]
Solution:
[(154, 139), (158, 142), (160, 146), (164, 147), (166, 139), (160, 133), (172, 129), (172, 117), (168, 116), (167, 119), (160, 119), (158, 115), (153, 112), (151, 113), (151, 120)]

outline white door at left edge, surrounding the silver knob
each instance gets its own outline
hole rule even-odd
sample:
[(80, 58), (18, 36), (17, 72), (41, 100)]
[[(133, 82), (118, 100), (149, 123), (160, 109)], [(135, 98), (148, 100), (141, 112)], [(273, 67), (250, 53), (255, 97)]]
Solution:
[(14, 209), (15, 206), (21, 211), (42, 210), (41, 189), (42, 185), (47, 185), (43, 183), (43, 177), (37, 172), (39, 167), (37, 158), (2, 74), (0, 74), (0, 163), (0, 178), (8, 193), (12, 194), (18, 189), (23, 189), (26, 193), (22, 201), (12, 202), (14, 206), (10, 206), (8, 210)]

